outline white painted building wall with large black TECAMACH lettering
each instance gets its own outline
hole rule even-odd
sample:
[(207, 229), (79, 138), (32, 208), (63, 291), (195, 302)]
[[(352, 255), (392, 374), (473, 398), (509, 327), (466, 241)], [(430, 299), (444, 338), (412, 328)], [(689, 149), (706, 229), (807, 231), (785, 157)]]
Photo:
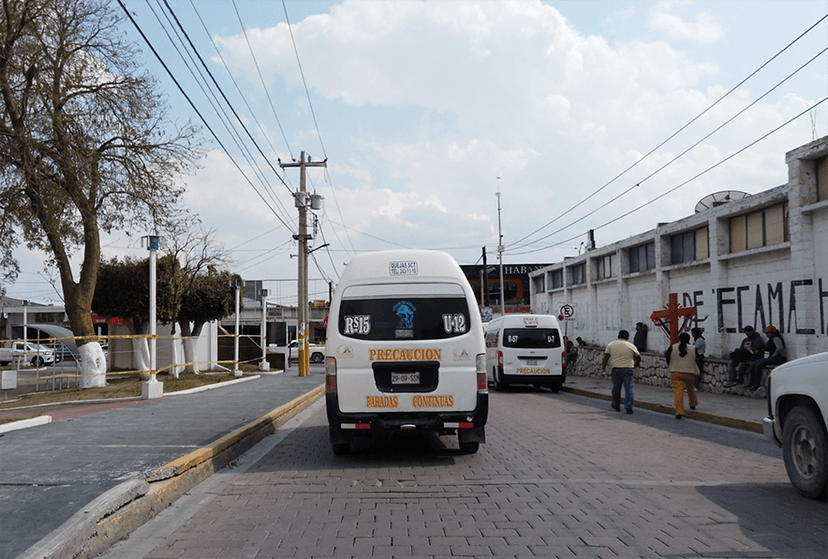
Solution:
[[(679, 304), (695, 307), (697, 325), (705, 332), (708, 355), (725, 357), (737, 347), (752, 325), (762, 330), (773, 324), (783, 333), (789, 357), (828, 351), (828, 201), (817, 201), (814, 159), (828, 156), (828, 137), (786, 154), (789, 182), (742, 200), (711, 208), (685, 219), (660, 224), (630, 239), (598, 247), (530, 274), (546, 274), (546, 289), (535, 292), (533, 312), (558, 314), (570, 304), (575, 316), (567, 334), (604, 345), (618, 330), (635, 331), (636, 322), (650, 325), (649, 347), (665, 350), (669, 342), (652, 324), (650, 314), (677, 293)], [(727, 190), (723, 187), (722, 190)], [(764, 206), (787, 201), (789, 241), (739, 253), (730, 253), (729, 219)], [(669, 265), (670, 237), (706, 224), (710, 258)], [(627, 249), (655, 241), (656, 269), (629, 274)], [(597, 278), (597, 263), (615, 254), (613, 277)], [(586, 263), (587, 283), (551, 289), (551, 272)], [(565, 283), (569, 281), (564, 271)]]

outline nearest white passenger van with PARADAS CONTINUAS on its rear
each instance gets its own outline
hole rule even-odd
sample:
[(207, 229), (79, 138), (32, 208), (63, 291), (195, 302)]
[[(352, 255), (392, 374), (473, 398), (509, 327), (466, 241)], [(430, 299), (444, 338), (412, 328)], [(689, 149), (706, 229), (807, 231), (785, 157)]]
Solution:
[(331, 445), (388, 431), (485, 443), (489, 394), (483, 324), (468, 280), (443, 252), (356, 256), (334, 292), (325, 344)]

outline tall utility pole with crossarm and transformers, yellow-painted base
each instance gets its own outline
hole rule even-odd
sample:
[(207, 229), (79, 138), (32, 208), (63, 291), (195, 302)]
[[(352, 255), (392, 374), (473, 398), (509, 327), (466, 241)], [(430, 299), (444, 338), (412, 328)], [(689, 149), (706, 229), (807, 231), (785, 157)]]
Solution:
[[(305, 152), (299, 157), (299, 163), (279, 163), (283, 169), (286, 167), (299, 167), (299, 192), (294, 193), (296, 208), (299, 210), (299, 234), (293, 238), (299, 242), (299, 271), (297, 274), (298, 301), (296, 303), (298, 314), (298, 346), (299, 346), (299, 376), (306, 377), (310, 374), (310, 362), (308, 360), (308, 206), (311, 209), (321, 208), (321, 196), (313, 195), (309, 200), (305, 188), (305, 169), (307, 167), (325, 167), (325, 161), (305, 161)], [(319, 204), (319, 207), (316, 204)]]

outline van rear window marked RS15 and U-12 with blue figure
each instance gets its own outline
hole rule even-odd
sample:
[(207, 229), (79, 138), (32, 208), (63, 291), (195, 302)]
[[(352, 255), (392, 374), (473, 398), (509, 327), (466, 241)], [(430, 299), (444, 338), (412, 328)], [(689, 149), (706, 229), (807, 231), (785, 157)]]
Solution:
[(442, 340), (462, 336), (471, 326), (465, 297), (402, 296), (344, 299), (339, 332), (370, 341)]

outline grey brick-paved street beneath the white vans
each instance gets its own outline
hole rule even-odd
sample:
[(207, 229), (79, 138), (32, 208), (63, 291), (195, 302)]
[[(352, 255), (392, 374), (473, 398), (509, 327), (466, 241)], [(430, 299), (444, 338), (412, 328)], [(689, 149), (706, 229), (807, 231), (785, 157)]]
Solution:
[[(828, 548), (825, 503), (793, 490), (758, 434), (527, 390), (492, 394), (475, 455), (455, 437), (407, 437), (335, 457), (324, 407), (309, 412), (108, 556), (823, 559)], [(152, 549), (138, 553), (146, 533)]]

